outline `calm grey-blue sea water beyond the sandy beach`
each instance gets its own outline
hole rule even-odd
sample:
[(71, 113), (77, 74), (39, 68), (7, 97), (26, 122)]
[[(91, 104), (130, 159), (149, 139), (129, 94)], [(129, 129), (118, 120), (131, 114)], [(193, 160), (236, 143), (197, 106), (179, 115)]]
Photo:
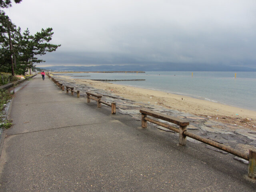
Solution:
[(256, 72), (193, 72), (193, 77), (192, 72), (180, 71), (66, 75), (79, 79), (146, 79), (112, 83), (161, 90), (256, 111)]

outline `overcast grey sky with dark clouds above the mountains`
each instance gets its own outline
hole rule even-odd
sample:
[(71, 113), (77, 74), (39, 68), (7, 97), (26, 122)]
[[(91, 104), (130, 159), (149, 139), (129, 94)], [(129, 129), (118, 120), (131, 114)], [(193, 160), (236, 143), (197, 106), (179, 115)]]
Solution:
[(256, 68), (256, 0), (22, 0), (6, 9), (31, 34), (52, 27), (40, 66), (223, 64)]

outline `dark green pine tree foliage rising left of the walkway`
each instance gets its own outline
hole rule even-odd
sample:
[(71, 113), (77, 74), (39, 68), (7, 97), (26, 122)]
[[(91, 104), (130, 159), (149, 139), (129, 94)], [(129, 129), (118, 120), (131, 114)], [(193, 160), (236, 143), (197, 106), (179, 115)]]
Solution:
[[(19, 3), (21, 0), (14, 0), (14, 2)], [(11, 1), (0, 0), (0, 6), (10, 7)], [(49, 43), (53, 34), (52, 28), (42, 28), (34, 35), (30, 34), (28, 29), (22, 33), (20, 27), (17, 28), (5, 12), (0, 10), (0, 71), (12, 71), (12, 56), (16, 74), (24, 75), (27, 68), (32, 68), (36, 63), (45, 62), (36, 56), (55, 51), (61, 46)]]

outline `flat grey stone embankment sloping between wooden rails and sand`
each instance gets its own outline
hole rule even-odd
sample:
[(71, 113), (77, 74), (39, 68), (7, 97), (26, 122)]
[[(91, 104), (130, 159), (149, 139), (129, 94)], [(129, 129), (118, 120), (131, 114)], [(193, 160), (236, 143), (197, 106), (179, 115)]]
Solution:
[[(164, 108), (162, 106), (158, 106), (157, 103), (151, 103), (150, 98), (148, 99), (148, 101), (145, 101), (146, 103), (135, 102), (117, 96), (113, 94), (111, 90), (101, 90), (92, 88), (89, 85), (76, 84), (75, 80), (73, 82), (67, 82), (66, 80), (58, 78), (57, 76), (54, 78), (59, 82), (63, 83), (65, 86), (72, 86), (75, 90), (80, 90), (81, 97), (86, 97), (86, 91), (102, 94), (102, 100), (106, 102), (116, 102), (117, 112), (121, 114), (130, 115), (132, 116), (132, 118), (134, 118), (134, 120), (141, 120), (141, 114), (139, 110), (142, 107), (146, 107), (156, 112), (160, 112), (162, 114), (167, 114), (174, 117), (182, 118), (184, 120), (188, 120), (190, 122), (190, 125), (187, 127), (187, 130), (189, 132), (192, 132), (204, 138), (211, 139), (215, 142), (224, 144), (226, 146), (230, 146), (236, 150), (248, 153), (250, 148), (256, 148), (256, 131), (254, 130), (244, 128), (236, 124), (217, 122), (210, 118), (196, 116), (194, 114), (188, 114), (185, 112)], [(179, 135), (176, 132), (172, 132), (171, 130), (168, 130), (161, 126), (154, 126), (160, 130), (170, 132), (171, 134), (177, 135), (177, 137), (179, 137)], [(187, 140), (193, 143), (200, 143), (199, 141), (194, 140), (192, 138), (187, 138)], [(206, 144), (205, 146), (208, 149), (227, 154), (222, 150), (218, 150)], [(248, 163), (246, 160), (240, 159), (238, 157), (235, 157), (235, 159), (240, 160), (241, 162), (244, 163)]]

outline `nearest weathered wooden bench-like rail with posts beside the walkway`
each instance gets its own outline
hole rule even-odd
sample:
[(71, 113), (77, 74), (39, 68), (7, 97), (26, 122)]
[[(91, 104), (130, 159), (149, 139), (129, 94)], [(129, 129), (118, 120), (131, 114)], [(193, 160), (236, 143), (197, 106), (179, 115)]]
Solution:
[[(248, 176), (250, 178), (256, 179), (256, 151), (249, 150), (249, 154), (240, 152), (239, 150), (235, 150), (231, 147), (225, 146), (223, 144), (220, 144), (218, 142), (214, 142), (210, 139), (203, 138), (201, 136), (198, 136), (196, 134), (190, 133), (186, 130), (186, 127), (189, 125), (189, 122), (182, 120), (180, 118), (172, 117), (169, 115), (160, 114), (158, 112), (154, 112), (152, 110), (143, 108), (140, 110), (140, 113), (142, 114), (142, 121), (141, 126), (142, 128), (147, 128), (147, 121), (152, 122), (154, 124), (163, 126), (165, 128), (168, 128), (174, 132), (179, 133), (179, 145), (185, 146), (186, 145), (186, 136), (193, 138), (195, 140), (198, 140), (200, 142), (203, 142), (205, 144), (208, 144), (210, 146), (213, 146), (215, 148), (218, 148), (220, 150), (226, 151), (230, 154), (233, 154), (235, 156), (238, 156), (240, 158), (243, 158), (245, 160), (249, 160), (249, 166), (248, 166)], [(148, 118), (147, 115), (165, 120), (167, 122), (171, 122), (174, 124), (179, 125), (179, 128), (176, 128), (174, 126), (170, 126), (169, 124), (159, 122), (157, 120)]]

